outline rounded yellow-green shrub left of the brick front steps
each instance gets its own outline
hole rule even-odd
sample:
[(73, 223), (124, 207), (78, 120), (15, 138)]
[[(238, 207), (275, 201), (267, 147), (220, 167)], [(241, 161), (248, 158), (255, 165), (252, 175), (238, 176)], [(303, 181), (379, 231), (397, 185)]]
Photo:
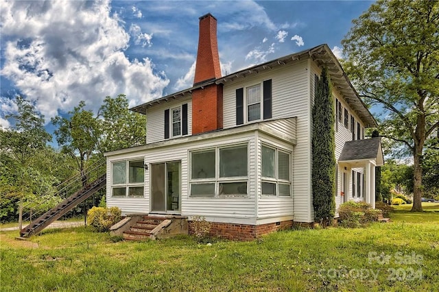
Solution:
[(99, 232), (106, 232), (110, 227), (121, 220), (121, 209), (117, 207), (93, 207), (87, 212), (88, 225)]

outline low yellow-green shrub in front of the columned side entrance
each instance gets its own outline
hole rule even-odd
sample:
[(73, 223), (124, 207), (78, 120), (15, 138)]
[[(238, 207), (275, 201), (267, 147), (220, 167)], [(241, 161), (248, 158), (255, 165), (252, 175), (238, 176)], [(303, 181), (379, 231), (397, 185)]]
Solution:
[(356, 228), (366, 226), (372, 221), (378, 221), (378, 215), (381, 210), (372, 209), (370, 204), (365, 202), (349, 201), (338, 208), (340, 216), (340, 226), (348, 228)]

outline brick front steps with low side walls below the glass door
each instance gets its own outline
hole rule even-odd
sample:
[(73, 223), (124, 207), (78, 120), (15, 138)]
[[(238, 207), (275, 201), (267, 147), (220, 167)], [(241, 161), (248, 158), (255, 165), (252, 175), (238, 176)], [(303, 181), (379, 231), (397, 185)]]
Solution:
[(189, 234), (189, 226), (187, 217), (178, 215), (131, 215), (112, 226), (110, 234), (126, 241), (154, 240)]

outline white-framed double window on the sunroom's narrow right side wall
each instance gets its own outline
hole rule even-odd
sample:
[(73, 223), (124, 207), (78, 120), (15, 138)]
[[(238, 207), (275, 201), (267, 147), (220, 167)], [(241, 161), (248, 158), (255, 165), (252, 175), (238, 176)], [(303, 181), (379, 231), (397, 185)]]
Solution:
[(291, 196), (290, 154), (262, 145), (262, 195)]

